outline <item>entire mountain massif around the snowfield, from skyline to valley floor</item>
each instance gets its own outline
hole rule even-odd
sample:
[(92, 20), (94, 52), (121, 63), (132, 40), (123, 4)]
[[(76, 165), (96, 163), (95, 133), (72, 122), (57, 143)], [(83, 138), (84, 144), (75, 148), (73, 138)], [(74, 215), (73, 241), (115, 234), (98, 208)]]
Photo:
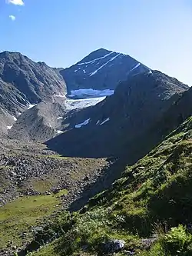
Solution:
[[(122, 137), (128, 134), (130, 139), (144, 131), (171, 104), (171, 96), (185, 90), (187, 86), (176, 79), (129, 55), (105, 49), (66, 69), (4, 52), (0, 55), (0, 130), (21, 140), (63, 136), (48, 145), (71, 155), (80, 151), (95, 156), (92, 141), (98, 145), (98, 156), (111, 155)], [(104, 143), (110, 146), (105, 148)]]

